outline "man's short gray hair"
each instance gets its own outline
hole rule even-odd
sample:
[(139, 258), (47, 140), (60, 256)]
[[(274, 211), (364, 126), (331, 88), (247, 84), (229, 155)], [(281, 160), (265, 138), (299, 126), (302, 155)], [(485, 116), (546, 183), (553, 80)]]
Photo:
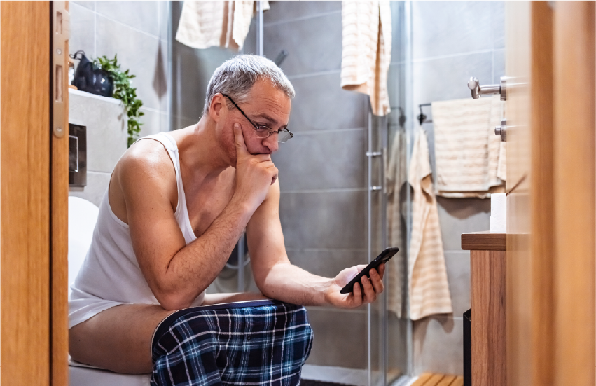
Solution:
[[(259, 79), (268, 79), (290, 99), (296, 96), (292, 84), (277, 64), (263, 56), (237, 55), (223, 62), (211, 76), (203, 114), (209, 113), (211, 99), (218, 92), (229, 95), (236, 103), (247, 102), (252, 86)], [(231, 106), (229, 101), (228, 106)]]

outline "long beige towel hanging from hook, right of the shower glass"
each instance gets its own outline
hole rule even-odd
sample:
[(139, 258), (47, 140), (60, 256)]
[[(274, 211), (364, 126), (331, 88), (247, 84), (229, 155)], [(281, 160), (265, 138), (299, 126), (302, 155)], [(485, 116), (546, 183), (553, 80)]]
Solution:
[(412, 235), (408, 256), (410, 319), (453, 312), (445, 269), (445, 255), (431, 181), (429, 144), (417, 129), (408, 182), (413, 188)]

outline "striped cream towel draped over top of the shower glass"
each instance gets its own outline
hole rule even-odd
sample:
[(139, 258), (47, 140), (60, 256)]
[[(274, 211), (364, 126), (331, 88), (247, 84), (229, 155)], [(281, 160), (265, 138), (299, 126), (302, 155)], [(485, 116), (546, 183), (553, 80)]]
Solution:
[(369, 95), (376, 116), (391, 111), (387, 92), (390, 62), (389, 0), (342, 0), (341, 86)]

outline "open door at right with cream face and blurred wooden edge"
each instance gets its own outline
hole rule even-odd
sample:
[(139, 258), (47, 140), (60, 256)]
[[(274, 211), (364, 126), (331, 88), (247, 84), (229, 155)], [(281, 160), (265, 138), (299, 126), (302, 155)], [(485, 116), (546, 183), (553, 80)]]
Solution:
[(553, 385), (553, 11), (506, 1), (508, 386)]

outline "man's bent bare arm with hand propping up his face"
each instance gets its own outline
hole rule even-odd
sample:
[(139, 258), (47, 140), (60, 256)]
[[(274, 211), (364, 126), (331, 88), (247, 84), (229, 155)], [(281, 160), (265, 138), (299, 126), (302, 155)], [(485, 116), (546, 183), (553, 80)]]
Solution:
[(167, 181), (172, 163), (163, 157), (147, 162), (145, 153), (134, 151), (122, 160), (119, 181), (134, 253), (155, 298), (167, 310), (190, 306), (211, 284), (277, 178), (270, 156), (252, 156), (240, 127), (235, 134), (239, 156), (233, 198), (205, 233), (186, 246), (165, 187), (172, 184)]

